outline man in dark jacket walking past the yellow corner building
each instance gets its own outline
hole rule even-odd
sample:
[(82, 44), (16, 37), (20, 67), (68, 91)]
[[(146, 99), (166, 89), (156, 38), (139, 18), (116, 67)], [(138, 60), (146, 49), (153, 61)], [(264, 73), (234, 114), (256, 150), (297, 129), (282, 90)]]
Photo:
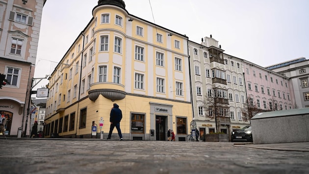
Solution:
[(114, 128), (116, 127), (118, 131), (118, 135), (119, 135), (119, 141), (123, 140), (121, 130), (120, 130), (120, 121), (122, 119), (122, 111), (119, 109), (119, 106), (116, 103), (114, 103), (114, 107), (111, 109), (109, 116), (110, 116), (109, 117), (110, 128), (109, 128), (108, 137), (106, 139), (110, 139), (111, 134)]

